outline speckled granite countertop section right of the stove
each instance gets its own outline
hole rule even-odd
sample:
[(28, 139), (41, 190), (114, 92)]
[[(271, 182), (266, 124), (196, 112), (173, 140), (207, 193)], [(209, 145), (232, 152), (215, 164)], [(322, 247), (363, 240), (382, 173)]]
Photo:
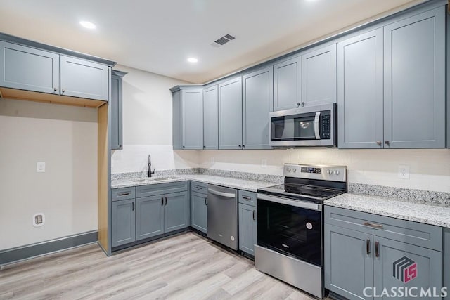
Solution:
[(391, 216), (450, 228), (450, 207), (445, 204), (400, 200), (390, 197), (345, 193), (325, 201), (326, 205), (370, 214)]

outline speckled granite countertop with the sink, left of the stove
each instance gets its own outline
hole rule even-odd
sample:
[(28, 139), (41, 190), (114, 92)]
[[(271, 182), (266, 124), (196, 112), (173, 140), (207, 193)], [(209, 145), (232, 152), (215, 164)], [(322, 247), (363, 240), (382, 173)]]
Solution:
[[(148, 181), (147, 178), (144, 181), (133, 181), (131, 178), (116, 179), (111, 181), (111, 188), (125, 188), (129, 186), (139, 186), (139, 185), (150, 185), (158, 183), (168, 183), (176, 181), (198, 181), (202, 183), (215, 184), (225, 186), (226, 188), (237, 188), (239, 190), (249, 190), (251, 192), (256, 192), (259, 188), (266, 188), (276, 183), (268, 181), (250, 181), (246, 179), (238, 179), (223, 176), (212, 176), (212, 175), (171, 175), (171, 176), (159, 176), (159, 177), (169, 177), (168, 180), (163, 181)], [(152, 177), (152, 178), (158, 178)]]

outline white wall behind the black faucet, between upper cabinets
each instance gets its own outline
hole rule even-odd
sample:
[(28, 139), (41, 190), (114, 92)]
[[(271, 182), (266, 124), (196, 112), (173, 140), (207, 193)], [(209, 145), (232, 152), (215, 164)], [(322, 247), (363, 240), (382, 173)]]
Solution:
[(197, 151), (172, 150), (172, 93), (186, 84), (158, 74), (117, 66), (123, 79), (123, 150), (113, 151), (111, 172), (146, 171), (148, 155), (157, 170), (198, 167)]

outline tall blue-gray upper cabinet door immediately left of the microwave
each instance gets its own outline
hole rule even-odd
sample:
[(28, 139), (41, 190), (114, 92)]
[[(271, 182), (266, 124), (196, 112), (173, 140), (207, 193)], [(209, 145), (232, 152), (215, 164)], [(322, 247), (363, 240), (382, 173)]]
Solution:
[(270, 149), (269, 112), (273, 111), (273, 67), (246, 74), (243, 84), (243, 149)]

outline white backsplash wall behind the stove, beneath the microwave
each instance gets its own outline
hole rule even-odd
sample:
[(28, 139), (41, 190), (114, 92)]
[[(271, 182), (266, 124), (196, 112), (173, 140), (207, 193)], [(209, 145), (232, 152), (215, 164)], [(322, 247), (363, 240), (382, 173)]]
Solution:
[[(262, 160), (266, 167), (262, 167)], [(200, 167), (245, 171), (262, 174), (283, 174), (286, 162), (304, 164), (343, 164), (348, 167), (348, 181), (417, 188), (450, 193), (450, 150), (217, 150), (201, 151)], [(398, 175), (400, 164), (410, 166), (410, 178)]]

